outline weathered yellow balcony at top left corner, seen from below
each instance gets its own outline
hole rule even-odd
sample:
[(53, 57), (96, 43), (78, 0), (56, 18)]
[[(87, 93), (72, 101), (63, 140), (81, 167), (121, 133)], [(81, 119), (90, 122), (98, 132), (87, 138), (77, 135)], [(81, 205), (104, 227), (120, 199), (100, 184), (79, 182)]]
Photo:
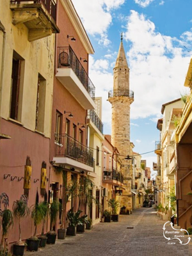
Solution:
[(13, 25), (25, 24), (29, 29), (29, 42), (60, 33), (56, 26), (56, 2), (54, 0), (11, 0)]

